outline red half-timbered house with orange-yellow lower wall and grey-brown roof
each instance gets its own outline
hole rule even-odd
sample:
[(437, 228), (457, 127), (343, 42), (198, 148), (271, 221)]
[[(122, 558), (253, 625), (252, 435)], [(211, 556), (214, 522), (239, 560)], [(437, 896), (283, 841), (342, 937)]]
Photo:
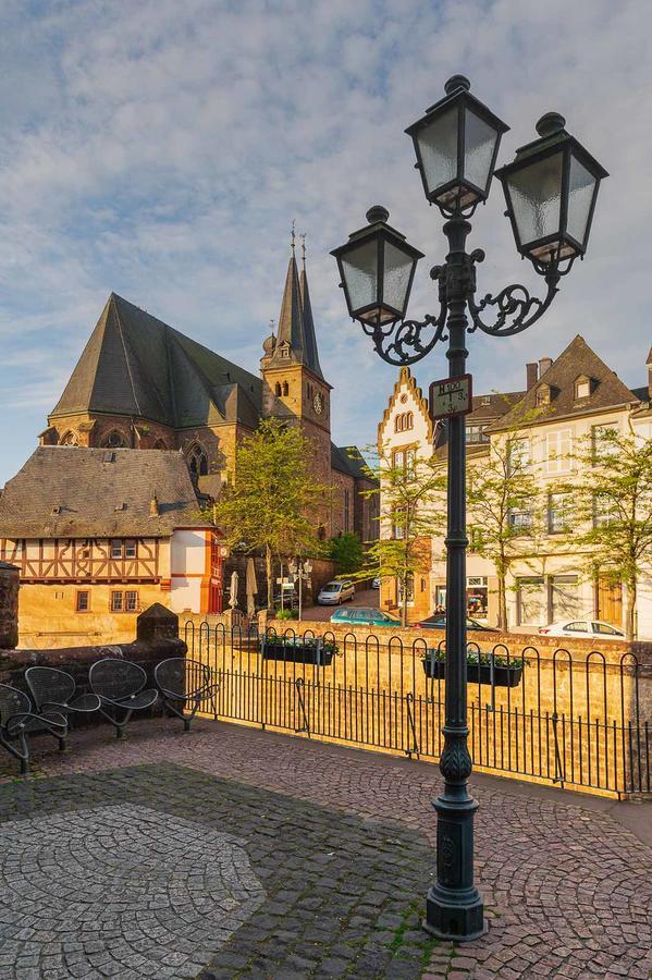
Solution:
[(0, 497), (0, 560), (21, 571), (21, 644), (133, 638), (152, 602), (221, 611), (218, 532), (183, 453), (40, 446)]

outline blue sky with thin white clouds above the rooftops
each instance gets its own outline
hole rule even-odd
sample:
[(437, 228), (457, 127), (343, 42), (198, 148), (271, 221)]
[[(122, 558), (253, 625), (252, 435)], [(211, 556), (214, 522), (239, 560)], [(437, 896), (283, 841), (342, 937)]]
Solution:
[[(473, 334), (476, 391), (576, 333), (647, 380), (652, 69), (647, 0), (51, 0), (0, 3), (0, 485), (32, 452), (111, 290), (256, 371), (278, 317), (290, 226), (308, 235), (333, 430), (368, 443), (396, 371), (346, 317), (329, 250), (384, 204), (426, 253), (410, 315), (433, 311), (441, 221), (406, 125), (445, 79), (510, 126), (543, 112), (610, 171), (587, 259), (526, 334)], [(479, 290), (522, 281), (494, 185), (473, 221)], [(443, 351), (418, 366), (446, 372)]]

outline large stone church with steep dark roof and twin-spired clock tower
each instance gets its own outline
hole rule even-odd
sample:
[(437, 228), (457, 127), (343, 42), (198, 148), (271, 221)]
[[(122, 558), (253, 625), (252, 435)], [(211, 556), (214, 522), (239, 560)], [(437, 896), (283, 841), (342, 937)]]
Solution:
[(266, 418), (298, 425), (315, 475), (334, 488), (320, 535), (377, 534), (372, 486), (356, 448), (331, 441), (331, 391), (319, 362), (305, 257), (287, 266), (276, 333), (260, 377), (111, 293), (59, 402), (42, 446), (181, 450), (197, 487), (217, 497), (237, 479), (237, 445)]

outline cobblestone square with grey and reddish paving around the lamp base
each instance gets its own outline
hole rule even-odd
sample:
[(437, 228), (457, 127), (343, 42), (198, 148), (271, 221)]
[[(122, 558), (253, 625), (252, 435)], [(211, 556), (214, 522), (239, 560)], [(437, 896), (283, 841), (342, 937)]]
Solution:
[(0, 785), (0, 976), (652, 976), (652, 805), (476, 777), (491, 929), (455, 948), (419, 929), (436, 767), (204, 720), (128, 731), (36, 739), (40, 775)]

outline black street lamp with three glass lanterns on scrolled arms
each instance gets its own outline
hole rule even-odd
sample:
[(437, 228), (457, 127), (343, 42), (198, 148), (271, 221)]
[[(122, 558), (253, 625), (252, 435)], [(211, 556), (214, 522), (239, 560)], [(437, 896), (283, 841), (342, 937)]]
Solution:
[[(558, 283), (587, 248), (600, 181), (606, 171), (570, 136), (565, 120), (550, 112), (537, 124), (539, 138), (521, 147), (514, 162), (495, 170), (501, 136), (508, 128), (470, 93), (463, 75), (445, 85), (445, 96), (406, 133), (411, 136), (426, 197), (446, 219), (445, 262), (430, 275), (439, 284), (440, 311), (406, 320), (409, 293), (422, 254), (387, 224), (389, 212), (376, 206), (369, 224), (335, 248), (348, 311), (358, 320), (380, 357), (409, 365), (447, 340), (448, 377), (466, 370), (466, 335), (481, 330), (512, 336), (527, 330), (549, 308)], [(522, 285), (508, 285), (477, 302), (476, 266), (470, 254), (469, 218), (489, 196), (493, 174), (503, 184), (516, 247), (529, 258), (548, 286), (543, 299)], [(493, 308), (492, 322), (483, 317)], [(470, 322), (469, 322), (470, 318)], [(448, 420), (446, 532), (446, 664), (444, 748), (440, 769), (436, 881), (426, 903), (426, 928), (440, 939), (465, 941), (485, 931), (482, 898), (473, 884), (473, 814), (468, 792), (471, 758), (467, 725), (466, 641), (466, 433), (463, 415)]]

